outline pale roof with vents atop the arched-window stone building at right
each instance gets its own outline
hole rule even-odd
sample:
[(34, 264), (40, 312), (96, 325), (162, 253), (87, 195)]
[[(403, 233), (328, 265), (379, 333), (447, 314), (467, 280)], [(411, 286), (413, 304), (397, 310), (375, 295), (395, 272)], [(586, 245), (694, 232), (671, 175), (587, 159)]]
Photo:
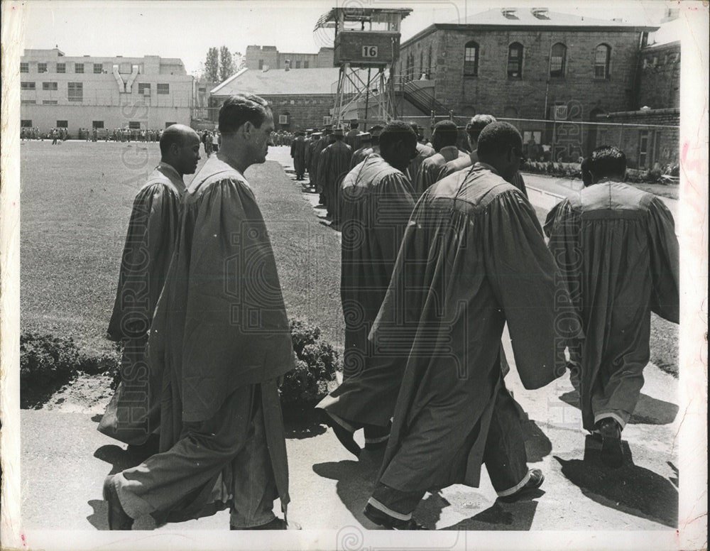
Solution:
[[(535, 13), (533, 13), (535, 12)], [(645, 31), (657, 30), (658, 26), (647, 26), (634, 21), (614, 21), (609, 19), (596, 19), (585, 16), (576, 16), (559, 11), (549, 11), (545, 8), (493, 8), (481, 13), (459, 18), (447, 23), (433, 23), (424, 30), (417, 33), (409, 40), (405, 40), (403, 45), (407, 45), (422, 36), (425, 36), (437, 29), (493, 29), (505, 28), (508, 30), (524, 30), (529, 28), (537, 29), (562, 29), (576, 28), (589, 31)]]

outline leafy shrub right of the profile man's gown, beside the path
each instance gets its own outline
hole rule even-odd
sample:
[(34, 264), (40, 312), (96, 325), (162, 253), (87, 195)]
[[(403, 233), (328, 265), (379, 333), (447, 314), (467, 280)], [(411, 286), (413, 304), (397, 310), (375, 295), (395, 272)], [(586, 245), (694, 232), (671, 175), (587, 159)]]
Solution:
[(297, 361), (281, 381), (281, 402), (306, 406), (328, 393), (328, 383), (335, 380), (335, 371), (342, 369), (341, 361), (331, 344), (318, 342), (317, 325), (291, 320), (290, 329)]

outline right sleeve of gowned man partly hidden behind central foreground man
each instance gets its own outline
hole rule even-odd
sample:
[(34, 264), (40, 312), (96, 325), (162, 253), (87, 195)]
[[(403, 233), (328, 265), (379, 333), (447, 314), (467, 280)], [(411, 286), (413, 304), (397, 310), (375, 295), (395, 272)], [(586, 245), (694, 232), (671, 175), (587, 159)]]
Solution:
[(413, 190), (403, 174), (391, 174), (383, 178), (377, 188), (377, 217), (386, 221), (375, 224), (375, 231), (381, 234), (383, 260), (394, 261), (402, 243), (405, 228), (414, 209)]

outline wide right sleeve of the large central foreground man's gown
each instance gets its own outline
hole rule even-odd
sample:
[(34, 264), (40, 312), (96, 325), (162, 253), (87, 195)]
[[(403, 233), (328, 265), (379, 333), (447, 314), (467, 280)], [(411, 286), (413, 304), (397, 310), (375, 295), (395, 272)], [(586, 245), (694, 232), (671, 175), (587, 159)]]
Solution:
[(564, 373), (564, 348), (579, 332), (579, 318), (530, 204), (511, 191), (488, 208), (486, 273), (508, 322), (520, 379), (525, 388), (540, 388)]

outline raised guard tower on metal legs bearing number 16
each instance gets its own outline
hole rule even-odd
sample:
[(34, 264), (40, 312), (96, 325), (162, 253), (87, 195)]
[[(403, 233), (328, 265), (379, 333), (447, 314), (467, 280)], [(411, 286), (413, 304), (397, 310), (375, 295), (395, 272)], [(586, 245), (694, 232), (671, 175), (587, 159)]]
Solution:
[(395, 116), (392, 67), (399, 58), (400, 26), (412, 9), (333, 8), (316, 23), (315, 31), (334, 28), (333, 64), (340, 67), (333, 126), (342, 125), (354, 106), (364, 102), (364, 122)]

